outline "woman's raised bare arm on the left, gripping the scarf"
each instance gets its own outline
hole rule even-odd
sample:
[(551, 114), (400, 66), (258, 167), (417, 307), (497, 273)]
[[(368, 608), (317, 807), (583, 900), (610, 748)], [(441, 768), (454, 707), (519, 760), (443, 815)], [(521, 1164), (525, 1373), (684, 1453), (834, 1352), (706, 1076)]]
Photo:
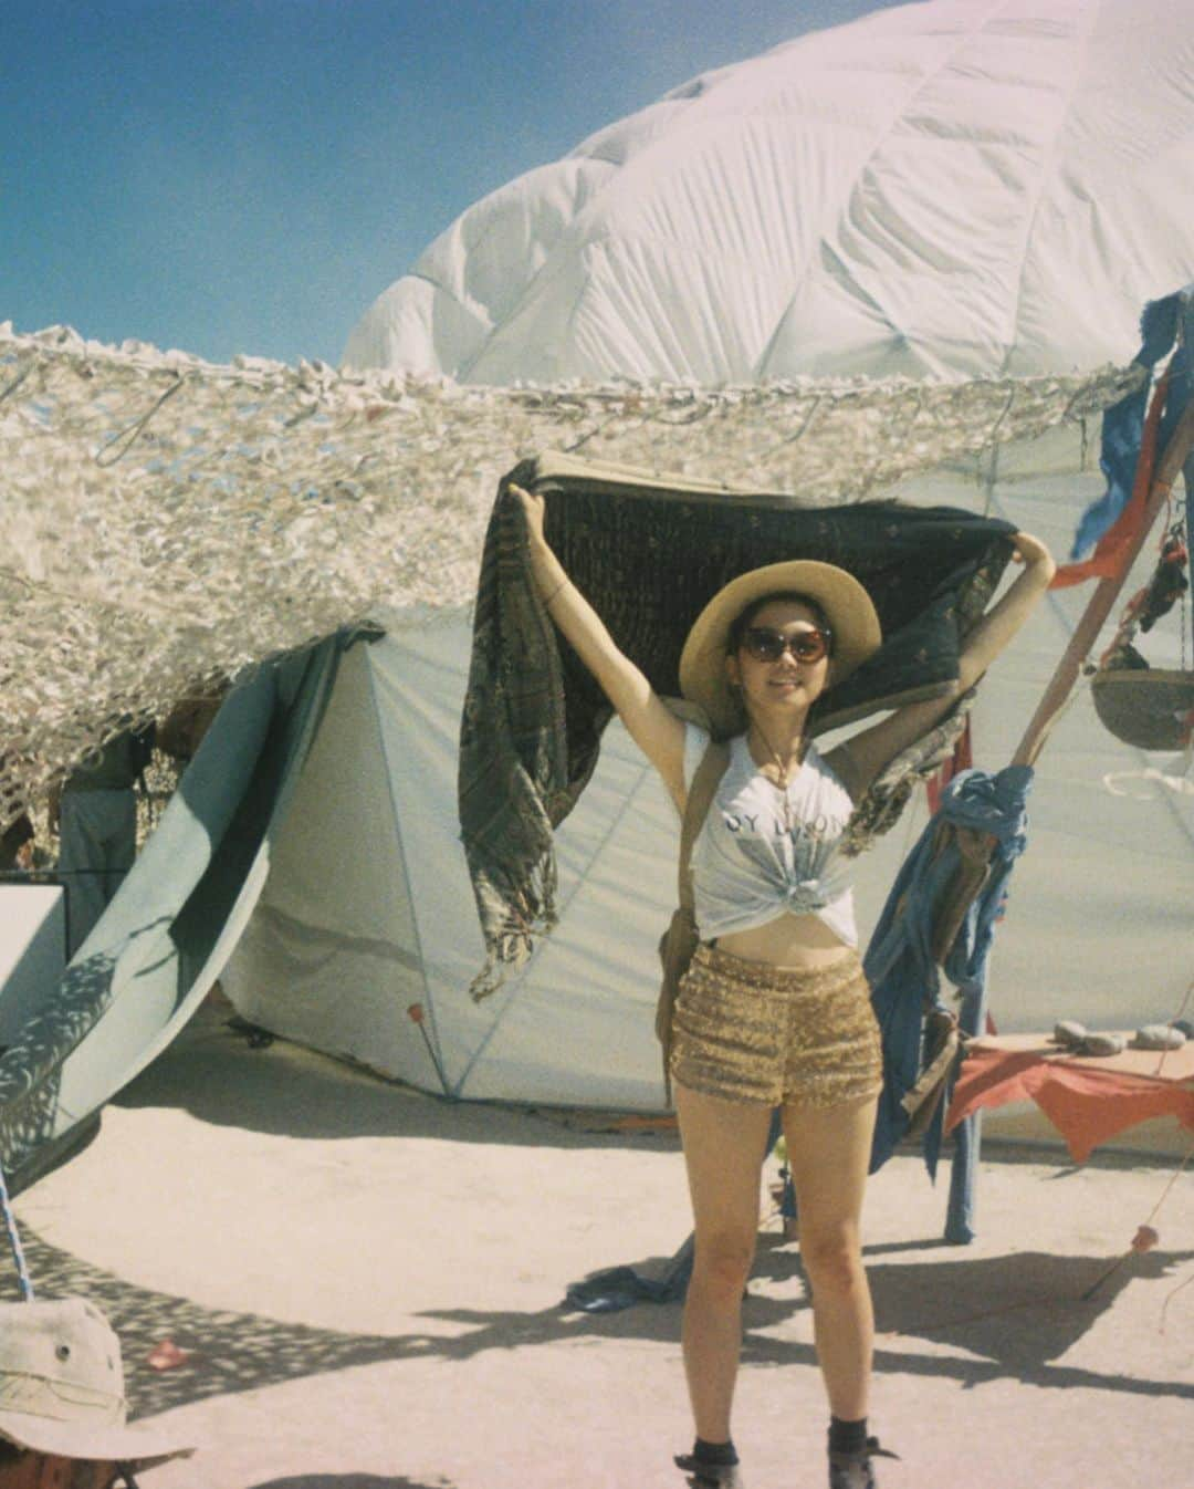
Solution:
[(683, 812), (683, 724), (660, 700), (643, 673), (618, 651), (604, 621), (569, 579), (543, 538), (543, 497), (518, 485), (509, 493), (523, 503), (530, 535), (530, 567), (539, 596), (557, 628), (588, 667), (613, 704), (627, 733), (658, 770)]

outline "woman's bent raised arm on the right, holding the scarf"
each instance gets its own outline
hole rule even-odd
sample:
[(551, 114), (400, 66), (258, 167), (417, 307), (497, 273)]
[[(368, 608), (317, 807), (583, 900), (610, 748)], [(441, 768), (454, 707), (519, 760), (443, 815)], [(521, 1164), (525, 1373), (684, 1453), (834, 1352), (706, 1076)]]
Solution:
[(1012, 561), (1023, 564), (1024, 572), (966, 637), (957, 660), (957, 682), (948, 694), (896, 709), (880, 724), (829, 752), (829, 764), (841, 774), (855, 801), (889, 761), (942, 719), (954, 701), (978, 682), (1036, 608), (1057, 570), (1048, 548), (1030, 533), (1015, 535)]

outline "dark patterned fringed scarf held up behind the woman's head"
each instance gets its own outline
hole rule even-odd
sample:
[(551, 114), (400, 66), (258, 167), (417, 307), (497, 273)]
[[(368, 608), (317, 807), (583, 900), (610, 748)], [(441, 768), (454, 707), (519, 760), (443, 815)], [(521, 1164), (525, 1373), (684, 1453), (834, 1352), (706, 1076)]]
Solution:
[[(826, 694), (813, 733), (942, 692), (960, 640), (986, 609), (1014, 529), (954, 508), (858, 502), (811, 508), (791, 496), (722, 494), (548, 475), (524, 462), (499, 487), (481, 558), (472, 664), (460, 725), (459, 807), (485, 938), (484, 998), (506, 966), (555, 923), (552, 828), (597, 762), (612, 709), (557, 633), (530, 572), (523, 509), (509, 482), (546, 497), (545, 533), (615, 643), (663, 697), (679, 694), (679, 660), (704, 605), (730, 579), (785, 558), (853, 573), (883, 625), (880, 651)], [(957, 725), (960, 728), (960, 722)], [(914, 774), (951, 746), (938, 727), (859, 804), (855, 850), (886, 831)]]

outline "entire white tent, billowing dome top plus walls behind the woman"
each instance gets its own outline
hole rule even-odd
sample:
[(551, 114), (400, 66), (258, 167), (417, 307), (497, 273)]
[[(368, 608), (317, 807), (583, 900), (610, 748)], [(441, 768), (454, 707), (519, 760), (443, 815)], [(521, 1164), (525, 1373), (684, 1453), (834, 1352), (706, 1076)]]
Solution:
[[(345, 362), (473, 383), (1126, 362), (1142, 304), (1194, 270), (1184, 12), (935, 0), (700, 77), (466, 211), (371, 307)], [(1064, 552), (1102, 485), (1096, 456), (1084, 427), (899, 494), (986, 506)], [(986, 685), (981, 764), (1009, 758), (1084, 599), (1051, 597)], [(493, 1007), (463, 993), (481, 957), (454, 817), (467, 643), (464, 615), (395, 616), (354, 655), (229, 990), (269, 1027), (417, 1084), (439, 1077), (406, 1001), (460, 1094), (657, 1105), (674, 823), (616, 725), (560, 834), (558, 931)], [(1157, 646), (1166, 661), (1178, 642)], [(392, 812), (354, 795), (368, 771)], [(863, 934), (920, 822), (863, 861)], [(360, 871), (332, 871), (341, 835), (369, 843)], [(1081, 695), (1041, 764), (993, 963), (1000, 1027), (1169, 1017), (1194, 950), (1193, 846), (1191, 780), (1115, 742)]]

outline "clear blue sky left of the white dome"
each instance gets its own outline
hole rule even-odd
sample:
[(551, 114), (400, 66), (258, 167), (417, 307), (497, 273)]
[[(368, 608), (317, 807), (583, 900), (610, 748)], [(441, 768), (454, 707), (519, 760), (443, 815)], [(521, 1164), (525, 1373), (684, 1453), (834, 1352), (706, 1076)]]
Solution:
[(0, 320), (338, 360), (479, 197), (880, 0), (3, 0)]

